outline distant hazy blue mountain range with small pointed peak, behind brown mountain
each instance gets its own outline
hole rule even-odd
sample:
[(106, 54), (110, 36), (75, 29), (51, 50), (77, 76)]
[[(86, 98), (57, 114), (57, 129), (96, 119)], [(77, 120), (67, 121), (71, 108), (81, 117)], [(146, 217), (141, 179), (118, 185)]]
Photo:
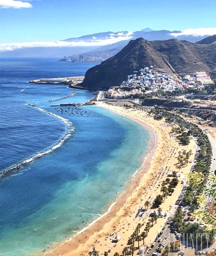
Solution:
[[(187, 40), (190, 42), (196, 42), (198, 40), (202, 40), (207, 36), (194, 36), (194, 35), (178, 35), (177, 37), (174, 36), (175, 33), (180, 33), (181, 31), (169, 31), (169, 30), (151, 30), (150, 28), (144, 28), (141, 31), (135, 32), (128, 32), (128, 31), (119, 31), (119, 32), (102, 32), (102, 33), (95, 33), (91, 35), (80, 36), (78, 38), (68, 38), (60, 40), (59, 42), (74, 42), (77, 45), (79, 42), (85, 42), (86, 46), (59, 46), (59, 47), (25, 47), (25, 49), (17, 49), (13, 51), (5, 51), (1, 52), (2, 57), (59, 57), (62, 58), (63, 56), (73, 56), (75, 54), (82, 54), (82, 53), (89, 53), (93, 51), (102, 51), (102, 50), (113, 50), (116, 53), (117, 50), (123, 49), (124, 46), (128, 44), (131, 39), (136, 38), (144, 38), (148, 41), (154, 40), (167, 40), (172, 38), (177, 38), (179, 40)], [(171, 35), (172, 34), (172, 35)], [(111, 41), (108, 39), (114, 38), (117, 39), (118, 37), (125, 38), (126, 40), (122, 40), (113, 44), (109, 44)], [(128, 39), (128, 37), (131, 37)], [(105, 41), (106, 45), (104, 46), (89, 46), (88, 44), (92, 42), (100, 42)]]

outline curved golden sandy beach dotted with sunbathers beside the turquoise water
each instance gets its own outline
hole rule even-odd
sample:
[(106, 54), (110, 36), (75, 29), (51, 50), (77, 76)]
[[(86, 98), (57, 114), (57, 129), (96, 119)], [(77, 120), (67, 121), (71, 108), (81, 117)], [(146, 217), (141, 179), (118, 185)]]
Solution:
[[(150, 129), (155, 133), (155, 145), (149, 149), (149, 157), (144, 162), (136, 176), (127, 187), (127, 191), (117, 200), (111, 207), (108, 214), (102, 216), (99, 220), (92, 223), (85, 231), (78, 234), (76, 237), (67, 238), (69, 241), (64, 241), (56, 245), (56, 248), (47, 248), (44, 253), (40, 255), (66, 255), (66, 256), (84, 256), (88, 255), (89, 251), (95, 248), (99, 251), (99, 255), (103, 255), (105, 251), (111, 249), (114, 253), (122, 254), (122, 250), (127, 246), (128, 238), (135, 230), (138, 223), (144, 225), (140, 229), (140, 233), (144, 231), (146, 223), (149, 219), (149, 214), (152, 211), (148, 210), (148, 214), (144, 213), (142, 218), (135, 218), (139, 207), (143, 206), (145, 201), (153, 202), (158, 194), (161, 194), (161, 182), (167, 178), (167, 174), (172, 171), (177, 171), (180, 174), (179, 183), (167, 199), (161, 204), (163, 212), (167, 212), (167, 216), (171, 214), (177, 206), (175, 201), (184, 184), (185, 174), (189, 172), (192, 163), (178, 169), (178, 152), (189, 151), (195, 152), (196, 144), (194, 140), (190, 140), (188, 146), (182, 146), (171, 132), (173, 124), (166, 123), (164, 120), (154, 120), (153, 116), (141, 110), (133, 108), (126, 109), (124, 107), (117, 107), (108, 105), (103, 102), (97, 102), (100, 107), (108, 108), (120, 115), (132, 118), (140, 124), (144, 125), (146, 129)], [(193, 155), (190, 160), (193, 160)], [(157, 209), (156, 209), (157, 210)], [(149, 245), (154, 240), (157, 232), (161, 230), (167, 217), (158, 218), (157, 223), (150, 228), (148, 236), (145, 238), (144, 245)], [(155, 223), (155, 222), (154, 222)], [(110, 234), (113, 234), (110, 236)], [(121, 237), (119, 242), (113, 242), (114, 237), (118, 235)], [(143, 241), (139, 243), (141, 246)], [(138, 246), (138, 242), (135, 242)], [(138, 251), (135, 251), (135, 254)]]

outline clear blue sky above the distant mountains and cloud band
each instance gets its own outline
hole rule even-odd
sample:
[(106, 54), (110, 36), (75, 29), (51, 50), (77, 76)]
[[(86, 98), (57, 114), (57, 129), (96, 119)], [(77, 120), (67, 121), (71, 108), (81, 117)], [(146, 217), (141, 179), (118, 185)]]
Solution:
[(106, 31), (216, 28), (215, 0), (0, 0), (1, 44)]

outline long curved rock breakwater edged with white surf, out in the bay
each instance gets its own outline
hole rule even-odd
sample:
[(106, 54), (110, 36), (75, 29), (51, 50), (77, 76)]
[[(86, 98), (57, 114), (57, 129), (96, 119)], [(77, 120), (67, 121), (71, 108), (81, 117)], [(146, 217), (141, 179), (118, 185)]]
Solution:
[(33, 104), (28, 104), (29, 106), (31, 107), (34, 107), (44, 113), (47, 113), (48, 115), (51, 115), (51, 116), (55, 116), (56, 118), (60, 119), (67, 127), (67, 133), (66, 135), (61, 138), (54, 146), (36, 154), (36, 155), (33, 155), (31, 157), (29, 157), (28, 159), (25, 159), (25, 160), (22, 160), (21, 162), (17, 163), (16, 165), (4, 170), (2, 173), (0, 173), (0, 179), (2, 179), (3, 177), (5, 177), (6, 175), (8, 175), (9, 173), (13, 172), (13, 171), (17, 171), (19, 170), (20, 168), (22, 168), (23, 166), (26, 166), (28, 163), (30, 162), (33, 162), (34, 160), (38, 159), (39, 157), (42, 157), (43, 155), (45, 154), (48, 154), (50, 152), (52, 152), (53, 150), (55, 150), (56, 148), (59, 148), (69, 137), (70, 135), (72, 134), (72, 132), (74, 132), (74, 127), (72, 125), (72, 123), (68, 120), (68, 119), (65, 119), (61, 116), (58, 116), (52, 112), (49, 112), (43, 108), (39, 108)]

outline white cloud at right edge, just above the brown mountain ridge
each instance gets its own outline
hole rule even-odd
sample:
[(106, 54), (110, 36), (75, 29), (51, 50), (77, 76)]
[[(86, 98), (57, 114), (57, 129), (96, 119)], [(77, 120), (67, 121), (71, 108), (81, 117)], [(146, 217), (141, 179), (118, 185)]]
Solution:
[(180, 33), (170, 33), (171, 36), (212, 36), (216, 34), (216, 28), (190, 28)]

